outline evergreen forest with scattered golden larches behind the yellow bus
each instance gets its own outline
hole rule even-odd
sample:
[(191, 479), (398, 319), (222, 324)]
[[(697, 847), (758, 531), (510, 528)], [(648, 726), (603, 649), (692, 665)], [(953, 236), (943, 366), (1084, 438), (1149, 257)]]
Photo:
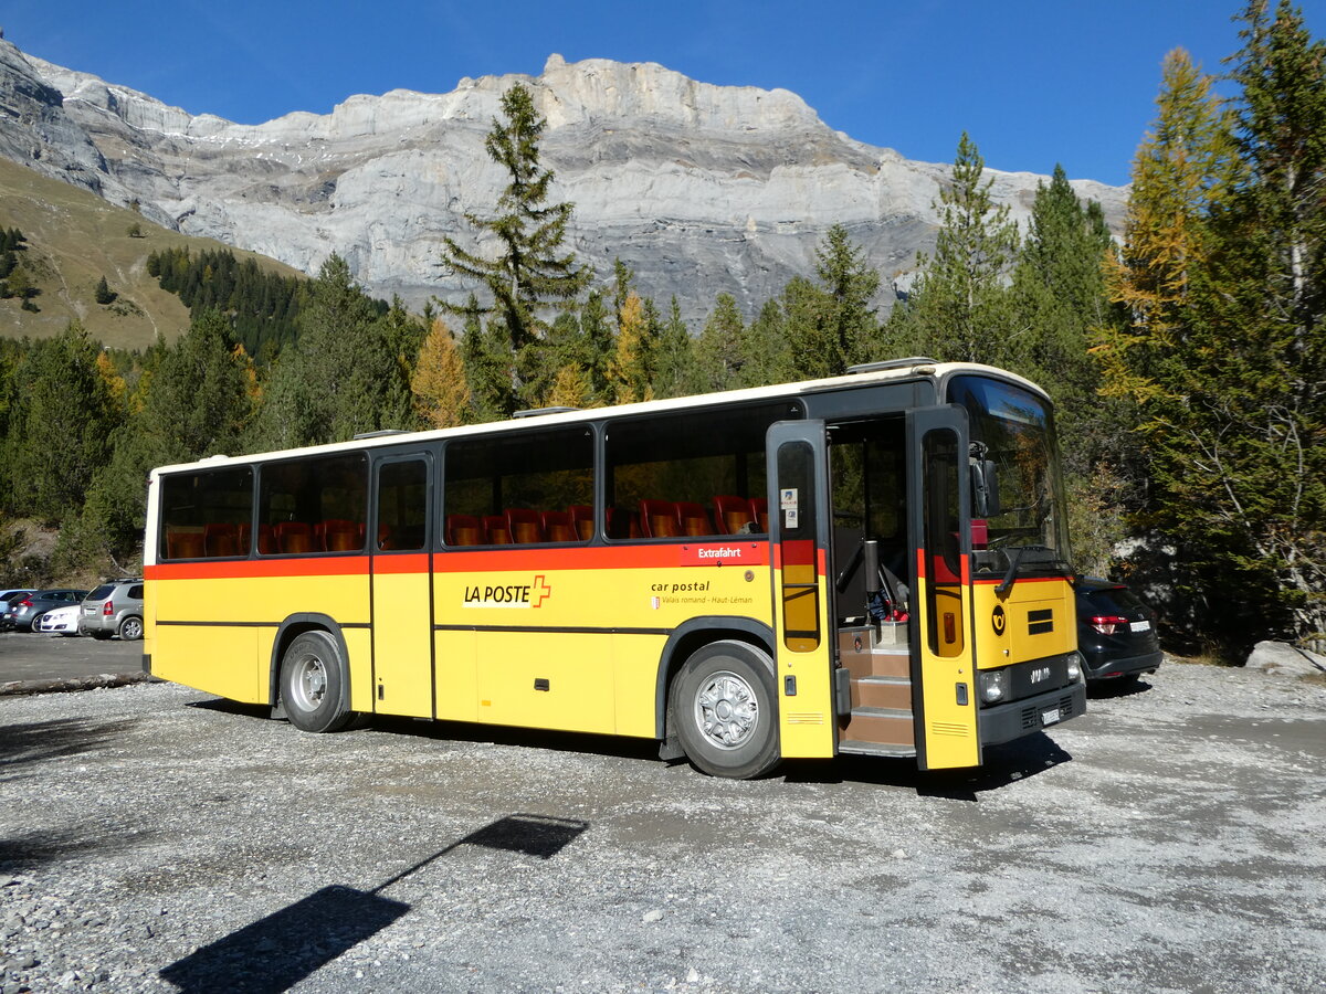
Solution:
[[(467, 205), (471, 236), (439, 258), (476, 288), (461, 305), (374, 301), (338, 256), (292, 280), (179, 249), (149, 260), (190, 307), (175, 341), (106, 350), (77, 323), (0, 341), (0, 580), (138, 573), (155, 465), (928, 355), (1049, 390), (1074, 565), (1134, 583), (1168, 648), (1321, 648), (1326, 45), (1289, 0), (1250, 0), (1237, 20), (1220, 76), (1167, 57), (1122, 233), (1059, 167), (1029, 224), (1012, 223), (961, 134), (935, 249), (887, 315), (843, 225), (754, 313), (719, 294), (699, 327), (621, 261), (595, 274), (540, 159), (546, 122), (516, 83), (487, 142), (511, 183)], [(21, 233), (0, 231), (0, 292), (21, 294)], [(33, 530), (58, 538), (41, 547)]]

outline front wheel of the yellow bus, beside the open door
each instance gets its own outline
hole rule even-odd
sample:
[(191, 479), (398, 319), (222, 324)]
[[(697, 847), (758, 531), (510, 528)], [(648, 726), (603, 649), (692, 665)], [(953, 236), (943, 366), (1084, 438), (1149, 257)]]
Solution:
[(778, 765), (773, 660), (744, 641), (697, 649), (672, 681), (672, 725), (696, 769), (751, 779)]

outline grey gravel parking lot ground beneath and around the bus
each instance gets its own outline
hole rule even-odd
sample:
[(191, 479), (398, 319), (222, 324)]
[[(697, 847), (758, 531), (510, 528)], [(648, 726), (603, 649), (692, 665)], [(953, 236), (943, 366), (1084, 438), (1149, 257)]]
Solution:
[(979, 771), (0, 698), (15, 991), (1326, 991), (1326, 681), (1167, 664)]

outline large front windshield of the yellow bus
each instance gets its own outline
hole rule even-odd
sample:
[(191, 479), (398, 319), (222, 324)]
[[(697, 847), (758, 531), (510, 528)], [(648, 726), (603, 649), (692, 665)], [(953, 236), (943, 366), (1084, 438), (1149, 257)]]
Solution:
[[(984, 547), (1002, 550), (1006, 563), (1026, 569), (1066, 569), (1067, 518), (1050, 406), (1028, 390), (984, 376), (955, 376), (948, 396), (967, 408), (973, 463), (993, 468), (997, 500), (984, 518)], [(980, 550), (979, 530), (972, 538)]]

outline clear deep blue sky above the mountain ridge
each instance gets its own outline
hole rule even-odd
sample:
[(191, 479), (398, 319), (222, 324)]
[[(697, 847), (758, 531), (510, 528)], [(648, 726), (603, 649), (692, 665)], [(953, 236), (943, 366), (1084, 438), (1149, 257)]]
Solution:
[[(1160, 61), (1208, 72), (1238, 48), (1244, 0), (7, 0), (5, 37), (190, 113), (257, 123), (355, 93), (446, 93), (465, 76), (568, 61), (660, 62), (701, 82), (784, 87), (831, 127), (952, 162), (1126, 183)], [(1299, 0), (1313, 34), (1326, 0)]]

